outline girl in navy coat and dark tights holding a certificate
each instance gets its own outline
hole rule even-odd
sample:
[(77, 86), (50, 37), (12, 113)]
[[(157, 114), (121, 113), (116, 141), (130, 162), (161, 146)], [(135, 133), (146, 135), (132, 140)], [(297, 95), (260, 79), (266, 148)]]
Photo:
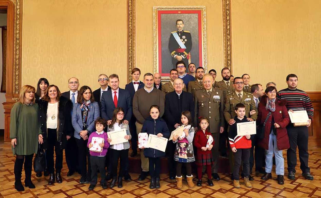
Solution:
[[(166, 122), (159, 117), (160, 108), (157, 105), (152, 105), (149, 113), (151, 116), (145, 120), (141, 133), (169, 138), (169, 130)], [(165, 156), (165, 152), (152, 148), (143, 149), (145, 157), (149, 159), (149, 174), (151, 175), (149, 188), (160, 188), (160, 157)]]

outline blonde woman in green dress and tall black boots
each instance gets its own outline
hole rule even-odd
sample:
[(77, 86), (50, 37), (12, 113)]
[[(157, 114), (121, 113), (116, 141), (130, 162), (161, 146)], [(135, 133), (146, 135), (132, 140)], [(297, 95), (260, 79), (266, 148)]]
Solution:
[(21, 183), (22, 165), (24, 162), (25, 186), (35, 188), (31, 181), (32, 158), (38, 151), (38, 134), (40, 125), (38, 122), (38, 104), (35, 103), (35, 88), (24, 85), (20, 90), (20, 101), (11, 109), (10, 138), (14, 162), (14, 188), (24, 191)]

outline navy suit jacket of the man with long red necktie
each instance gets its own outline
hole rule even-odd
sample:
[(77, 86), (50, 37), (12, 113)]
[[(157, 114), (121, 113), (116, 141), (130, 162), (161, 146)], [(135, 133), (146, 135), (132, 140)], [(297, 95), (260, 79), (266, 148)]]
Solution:
[[(124, 119), (130, 121), (130, 118), (133, 115), (133, 102), (130, 99), (130, 94), (127, 90), (119, 88), (117, 107), (124, 109)], [(112, 90), (108, 89), (108, 91), (104, 92), (101, 96), (101, 117), (105, 120), (111, 120), (115, 108)]]

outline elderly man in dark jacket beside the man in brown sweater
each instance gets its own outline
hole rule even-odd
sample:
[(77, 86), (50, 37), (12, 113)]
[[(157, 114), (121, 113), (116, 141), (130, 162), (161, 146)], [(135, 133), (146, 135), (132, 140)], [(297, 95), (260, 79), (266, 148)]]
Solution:
[[(180, 78), (174, 80), (174, 89), (165, 96), (165, 121), (169, 131), (174, 131), (181, 123), (181, 113), (183, 111), (190, 111), (192, 118), (194, 117), (194, 101), (191, 93), (183, 91), (185, 84)], [(169, 141), (167, 143), (166, 151), (169, 164), (169, 179), (175, 179), (176, 163), (174, 161), (174, 151), (176, 143)]]

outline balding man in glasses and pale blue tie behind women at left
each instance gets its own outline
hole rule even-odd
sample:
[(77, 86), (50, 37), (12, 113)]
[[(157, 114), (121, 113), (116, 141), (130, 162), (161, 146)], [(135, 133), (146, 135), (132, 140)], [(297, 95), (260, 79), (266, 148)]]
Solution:
[[(74, 105), (75, 103), (77, 103), (78, 87), (79, 87), (79, 80), (75, 77), (71, 77), (68, 80), (69, 91), (62, 93), (61, 95), (65, 98), (70, 99)], [(73, 111), (71, 111), (71, 114), (72, 112)], [(76, 145), (76, 141), (74, 139), (74, 136), (71, 136), (71, 138), (67, 140), (66, 148), (65, 148), (66, 162), (69, 169), (67, 176), (72, 176), (75, 170), (76, 169), (78, 170), (78, 167), (77, 167), (78, 155), (77, 155), (77, 147), (75, 145)], [(78, 172), (80, 173), (80, 169), (78, 170)]]

